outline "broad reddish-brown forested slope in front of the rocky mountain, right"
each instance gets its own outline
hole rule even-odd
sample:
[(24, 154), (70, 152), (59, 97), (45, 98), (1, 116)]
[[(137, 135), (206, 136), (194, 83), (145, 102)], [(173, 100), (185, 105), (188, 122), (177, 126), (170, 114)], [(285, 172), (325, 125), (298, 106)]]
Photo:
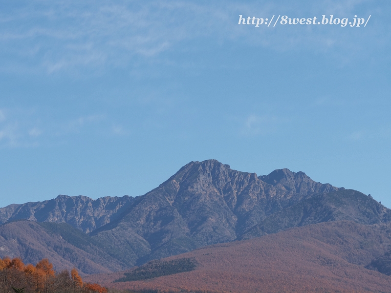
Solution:
[(162, 292), (391, 292), (390, 276), (365, 269), (390, 245), (389, 227), (335, 221), (168, 258), (195, 258), (191, 272), (119, 283), (111, 283), (119, 273), (85, 279)]

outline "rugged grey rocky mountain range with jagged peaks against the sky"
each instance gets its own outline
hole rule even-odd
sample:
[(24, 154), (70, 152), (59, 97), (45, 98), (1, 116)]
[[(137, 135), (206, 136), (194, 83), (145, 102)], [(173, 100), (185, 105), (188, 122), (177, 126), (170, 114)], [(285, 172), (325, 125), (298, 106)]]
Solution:
[[(3, 225), (16, 219), (67, 223), (86, 232), (123, 268), (321, 222), (389, 224), (391, 210), (361, 192), (315, 182), (303, 172), (280, 169), (257, 176), (207, 160), (190, 162), (135, 198), (60, 195), (0, 209)], [(0, 242), (0, 256), (7, 245)]]

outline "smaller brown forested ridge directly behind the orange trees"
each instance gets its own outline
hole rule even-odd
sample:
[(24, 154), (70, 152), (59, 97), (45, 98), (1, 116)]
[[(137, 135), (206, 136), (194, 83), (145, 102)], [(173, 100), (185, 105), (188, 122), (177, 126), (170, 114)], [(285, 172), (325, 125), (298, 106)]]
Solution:
[[(56, 230), (50, 229), (53, 227)], [(81, 273), (91, 274), (129, 268), (110, 256), (99, 242), (65, 223), (18, 220), (1, 225), (0, 252), (2, 257), (20, 257), (25, 263), (48, 258), (56, 271), (76, 267)]]

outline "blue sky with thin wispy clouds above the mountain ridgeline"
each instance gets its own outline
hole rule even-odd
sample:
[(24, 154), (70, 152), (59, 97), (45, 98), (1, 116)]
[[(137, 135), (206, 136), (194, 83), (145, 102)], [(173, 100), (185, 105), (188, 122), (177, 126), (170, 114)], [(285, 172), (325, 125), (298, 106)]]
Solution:
[(0, 206), (142, 195), (217, 159), (304, 171), (391, 208), (390, 12), (389, 0), (2, 1)]

